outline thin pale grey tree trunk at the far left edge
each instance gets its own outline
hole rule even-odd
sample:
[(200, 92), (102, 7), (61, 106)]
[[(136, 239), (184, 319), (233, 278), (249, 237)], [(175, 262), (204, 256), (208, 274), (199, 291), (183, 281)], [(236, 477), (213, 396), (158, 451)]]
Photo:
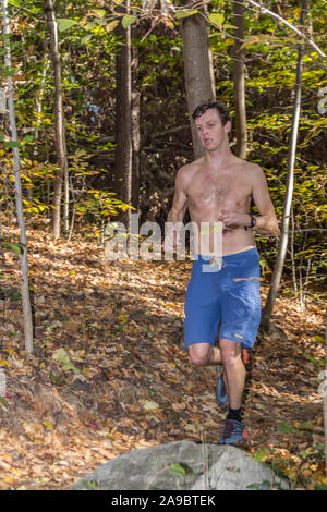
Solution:
[[(4, 64), (9, 69), (11, 68), (11, 51), (10, 51), (10, 39), (9, 39), (9, 20), (8, 20), (8, 0), (2, 0), (2, 23), (3, 23), (3, 35), (4, 35)], [(17, 143), (17, 130), (14, 111), (14, 95), (13, 95), (13, 83), (12, 77), (7, 77), (8, 83), (8, 105), (9, 105), (9, 118), (11, 129), (11, 141)], [(21, 160), (19, 147), (13, 147), (13, 161), (14, 161), (14, 182), (15, 182), (15, 203), (17, 212), (17, 223), (20, 229), (20, 243), (22, 244), (22, 257), (21, 257), (21, 272), (22, 272), (22, 307), (24, 318), (24, 337), (25, 337), (25, 350), (26, 352), (33, 353), (33, 317), (31, 307), (31, 295), (28, 288), (28, 261), (27, 261), (27, 236), (25, 229), (25, 220), (23, 212), (23, 197), (22, 197), (22, 182), (21, 182)]]

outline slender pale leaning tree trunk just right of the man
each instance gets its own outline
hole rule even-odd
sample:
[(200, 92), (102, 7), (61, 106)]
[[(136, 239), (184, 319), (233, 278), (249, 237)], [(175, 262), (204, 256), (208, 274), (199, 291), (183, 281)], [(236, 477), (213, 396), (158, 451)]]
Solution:
[[(302, 26), (304, 26), (304, 23), (305, 23), (306, 11), (307, 11), (307, 0), (302, 0), (301, 16), (300, 16), (300, 23)], [(262, 327), (264, 331), (266, 332), (269, 332), (271, 314), (272, 314), (274, 304), (276, 301), (278, 288), (280, 284), (280, 280), (281, 280), (282, 268), (283, 268), (283, 263), (284, 263), (288, 241), (289, 241), (289, 224), (290, 224), (293, 185), (294, 185), (294, 163), (295, 163), (295, 157), (296, 157), (299, 118), (300, 118), (300, 110), (301, 110), (303, 53), (304, 53), (304, 47), (303, 47), (303, 44), (300, 44), (299, 53), (298, 53), (298, 64), (296, 64), (296, 80), (295, 80), (295, 96), (294, 96), (294, 106), (293, 106), (292, 130), (291, 130), (290, 146), (289, 146), (287, 192), (286, 192), (286, 199), (284, 199), (284, 205), (283, 205), (280, 246), (279, 246), (279, 252), (278, 252), (277, 260), (276, 260), (274, 272), (272, 272), (272, 279), (271, 279), (271, 283), (269, 288), (269, 293), (268, 293), (267, 302), (263, 312), (263, 319), (262, 319)]]

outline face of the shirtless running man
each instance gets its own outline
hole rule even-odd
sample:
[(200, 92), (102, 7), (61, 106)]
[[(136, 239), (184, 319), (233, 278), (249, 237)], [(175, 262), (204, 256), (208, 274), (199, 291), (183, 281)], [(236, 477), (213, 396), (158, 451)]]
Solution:
[(219, 149), (228, 138), (231, 124), (228, 121), (223, 126), (216, 109), (209, 109), (195, 120), (195, 126), (202, 145), (213, 151)]

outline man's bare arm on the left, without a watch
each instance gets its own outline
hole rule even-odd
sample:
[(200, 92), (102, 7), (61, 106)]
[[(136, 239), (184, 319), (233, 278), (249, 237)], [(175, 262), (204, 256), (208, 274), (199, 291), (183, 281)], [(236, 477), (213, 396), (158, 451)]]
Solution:
[(165, 251), (172, 252), (178, 241), (178, 228), (173, 227), (177, 222), (183, 222), (187, 208), (187, 195), (185, 192), (185, 167), (182, 167), (175, 178), (174, 195), (171, 210), (168, 214), (167, 222), (171, 223), (165, 236)]

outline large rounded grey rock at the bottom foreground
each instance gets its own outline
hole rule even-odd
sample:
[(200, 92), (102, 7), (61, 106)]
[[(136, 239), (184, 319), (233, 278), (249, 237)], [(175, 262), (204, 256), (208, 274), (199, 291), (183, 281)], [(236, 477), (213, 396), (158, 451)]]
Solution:
[(133, 450), (81, 478), (72, 490), (287, 489), (262, 462), (231, 446), (177, 441)]

